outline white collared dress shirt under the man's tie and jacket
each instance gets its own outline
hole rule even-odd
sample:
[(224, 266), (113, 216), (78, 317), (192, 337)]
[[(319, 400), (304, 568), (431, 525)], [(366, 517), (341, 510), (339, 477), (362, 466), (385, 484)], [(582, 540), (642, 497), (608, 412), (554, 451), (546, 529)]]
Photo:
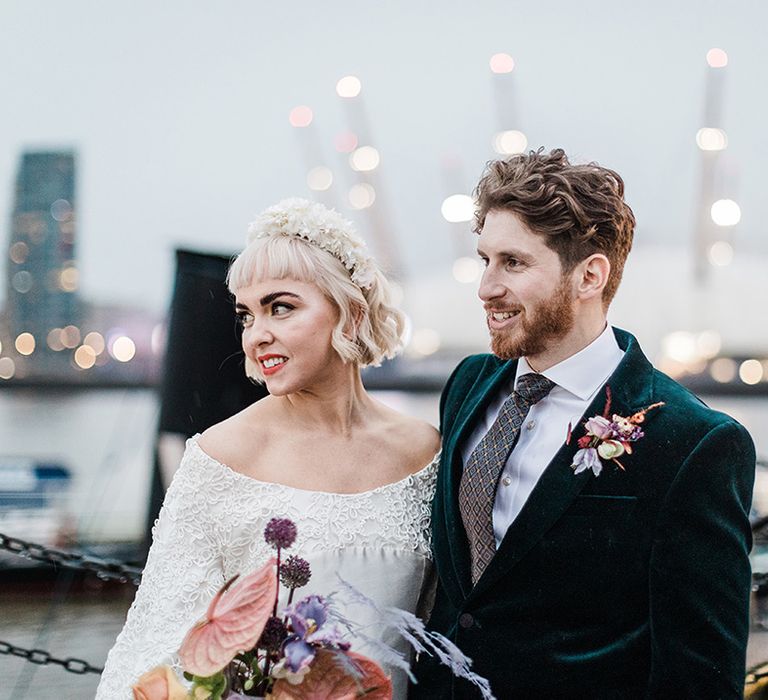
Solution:
[[(583, 350), (541, 373), (553, 381), (555, 386), (547, 396), (531, 406), (520, 429), (520, 437), (499, 478), (493, 505), (496, 547), (501, 544), (507, 528), (518, 516), (536, 482), (565, 442), (568, 426), (576, 428), (584, 411), (622, 357), (624, 351), (616, 343), (611, 327), (606, 326)], [(465, 465), (472, 451), (490, 430), (502, 404), (517, 386), (517, 380), (529, 372), (533, 370), (526, 359), (521, 357), (514, 382), (494, 397), (483, 419), (463, 446), (462, 458)]]

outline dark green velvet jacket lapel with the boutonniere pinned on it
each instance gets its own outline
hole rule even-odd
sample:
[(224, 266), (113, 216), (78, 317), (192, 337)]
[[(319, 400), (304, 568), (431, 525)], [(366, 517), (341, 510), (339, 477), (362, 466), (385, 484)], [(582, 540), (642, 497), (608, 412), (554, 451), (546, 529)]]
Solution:
[[(649, 403), (653, 368), (633, 336), (619, 329), (614, 329), (614, 333), (625, 355), (606, 384), (611, 388), (611, 413), (626, 416)], [(578, 449), (577, 439), (583, 433), (584, 420), (602, 414), (605, 405), (603, 387), (573, 426), (574, 436), (570, 443), (563, 444), (547, 465), (520, 514), (509, 526), (498, 552), (472, 589), (472, 597), (492, 587), (517, 564), (557, 522), (589, 480), (595, 478), (589, 470), (574, 474), (571, 464)]]

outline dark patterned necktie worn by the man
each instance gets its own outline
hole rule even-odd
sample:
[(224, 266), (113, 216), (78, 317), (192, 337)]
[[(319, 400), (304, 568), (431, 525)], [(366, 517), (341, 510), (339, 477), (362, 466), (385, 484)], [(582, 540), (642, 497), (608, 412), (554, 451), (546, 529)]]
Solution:
[(469, 538), (472, 584), (476, 584), (496, 554), (493, 502), (496, 485), (515, 446), (528, 410), (554, 387), (541, 374), (524, 374), (503, 403), (499, 415), (467, 460), (459, 485), (459, 510)]

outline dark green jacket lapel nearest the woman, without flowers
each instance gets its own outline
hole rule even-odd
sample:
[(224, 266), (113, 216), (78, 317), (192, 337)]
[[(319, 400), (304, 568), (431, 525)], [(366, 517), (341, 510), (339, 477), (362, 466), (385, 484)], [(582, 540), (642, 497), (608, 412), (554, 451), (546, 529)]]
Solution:
[[(459, 484), (463, 471), (461, 448), (466, 443), (477, 422), (482, 419), (488, 404), (502, 389), (506, 382), (512, 380), (517, 368), (517, 360), (499, 363), (495, 358), (489, 358), (490, 366), (483, 368), (474, 385), (467, 392), (466, 400), (456, 416), (455, 428), (447, 442), (443, 445), (443, 498), (445, 499), (442, 512), (444, 528), (447, 535), (448, 557), (450, 557), (455, 580), (459, 590), (453, 593), (454, 602), (461, 605), (472, 588), (471, 564), (467, 535), (459, 509)], [(457, 598), (457, 596), (460, 596)]]

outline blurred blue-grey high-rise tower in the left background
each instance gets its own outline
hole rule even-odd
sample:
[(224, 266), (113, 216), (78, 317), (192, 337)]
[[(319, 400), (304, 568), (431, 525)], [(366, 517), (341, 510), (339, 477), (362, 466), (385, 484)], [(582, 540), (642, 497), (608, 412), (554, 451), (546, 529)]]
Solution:
[(74, 153), (24, 153), (7, 257), (7, 337), (18, 370), (55, 372), (64, 360), (55, 351), (66, 340), (62, 330), (78, 329), (75, 221)]

